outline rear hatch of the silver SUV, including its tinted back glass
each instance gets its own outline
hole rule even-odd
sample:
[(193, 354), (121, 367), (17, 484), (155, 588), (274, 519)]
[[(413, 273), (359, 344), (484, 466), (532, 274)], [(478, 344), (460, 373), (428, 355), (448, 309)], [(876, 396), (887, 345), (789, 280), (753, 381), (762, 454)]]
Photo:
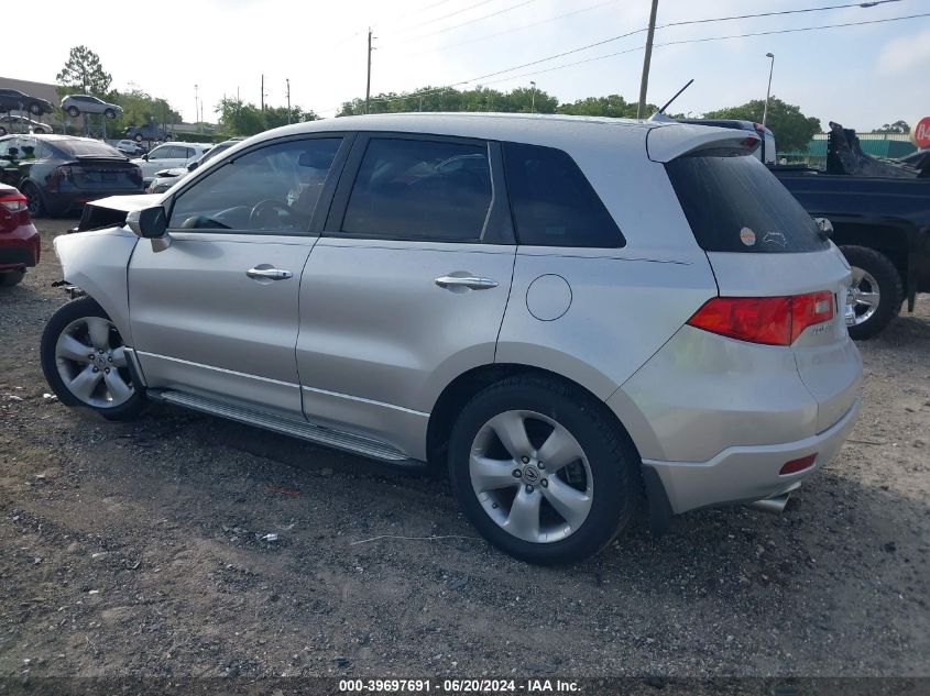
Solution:
[(750, 156), (753, 150), (750, 141), (737, 144), (731, 136), (729, 144), (704, 143), (670, 158), (666, 170), (721, 298), (770, 298), (734, 301), (732, 311), (764, 301), (783, 318), (787, 312), (787, 339), (776, 331), (759, 342), (792, 351), (818, 401), (822, 432), (849, 411), (860, 390), (862, 363), (843, 320), (850, 268), (788, 190)]

